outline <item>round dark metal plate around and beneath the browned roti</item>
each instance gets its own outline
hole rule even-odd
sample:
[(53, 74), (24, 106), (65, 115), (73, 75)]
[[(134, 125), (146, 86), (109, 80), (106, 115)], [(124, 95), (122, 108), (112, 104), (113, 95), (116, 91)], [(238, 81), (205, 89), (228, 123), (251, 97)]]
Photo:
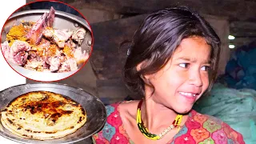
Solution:
[(84, 126), (78, 129), (73, 134), (67, 135), (63, 138), (38, 141), (33, 139), (21, 138), (12, 134), (9, 130), (6, 130), (0, 122), (0, 135), (8, 138), (14, 142), (22, 143), (37, 143), (37, 144), (54, 144), (54, 143), (74, 143), (89, 138), (93, 134), (101, 130), (106, 123), (106, 109), (103, 103), (95, 96), (87, 93), (80, 88), (74, 88), (63, 84), (25, 84), (19, 86), (13, 86), (3, 90), (0, 93), (0, 110), (4, 110), (8, 103), (21, 94), (26, 94), (31, 91), (46, 90), (57, 94), (68, 96), (74, 101), (79, 102), (86, 110), (87, 121)]

